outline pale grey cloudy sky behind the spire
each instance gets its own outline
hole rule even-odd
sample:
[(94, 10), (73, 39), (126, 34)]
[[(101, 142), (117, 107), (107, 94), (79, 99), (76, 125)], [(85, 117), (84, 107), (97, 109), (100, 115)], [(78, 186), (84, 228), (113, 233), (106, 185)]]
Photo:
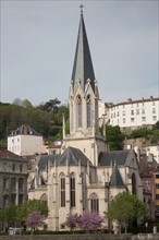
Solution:
[(159, 96), (159, 2), (1, 0), (0, 101), (68, 103), (80, 5), (99, 96)]

